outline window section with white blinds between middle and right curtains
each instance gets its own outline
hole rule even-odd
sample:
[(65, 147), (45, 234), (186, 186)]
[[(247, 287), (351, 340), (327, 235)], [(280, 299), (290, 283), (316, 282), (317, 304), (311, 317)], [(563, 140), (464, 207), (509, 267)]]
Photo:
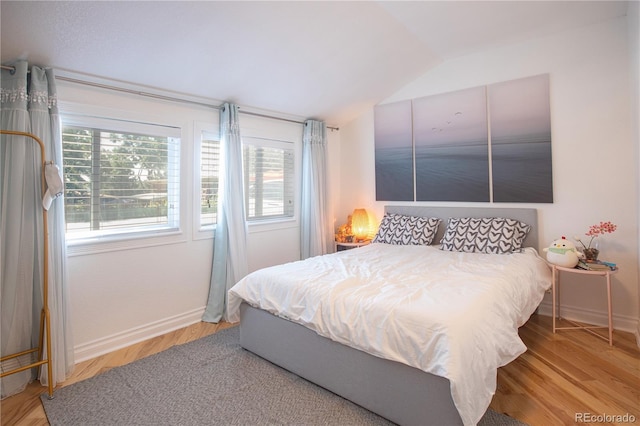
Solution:
[(247, 220), (293, 217), (294, 158), (293, 143), (243, 138)]

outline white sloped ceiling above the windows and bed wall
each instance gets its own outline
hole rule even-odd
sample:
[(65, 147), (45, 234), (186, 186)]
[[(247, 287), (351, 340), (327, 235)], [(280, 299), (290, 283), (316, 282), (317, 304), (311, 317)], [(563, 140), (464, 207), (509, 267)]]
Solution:
[(624, 1), (7, 1), (2, 64), (344, 124), (442, 61), (625, 15)]

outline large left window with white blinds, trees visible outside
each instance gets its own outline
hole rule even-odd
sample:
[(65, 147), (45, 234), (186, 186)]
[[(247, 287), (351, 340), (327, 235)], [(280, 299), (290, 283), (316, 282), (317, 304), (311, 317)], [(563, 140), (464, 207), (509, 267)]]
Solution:
[(63, 118), (69, 240), (179, 228), (180, 129)]

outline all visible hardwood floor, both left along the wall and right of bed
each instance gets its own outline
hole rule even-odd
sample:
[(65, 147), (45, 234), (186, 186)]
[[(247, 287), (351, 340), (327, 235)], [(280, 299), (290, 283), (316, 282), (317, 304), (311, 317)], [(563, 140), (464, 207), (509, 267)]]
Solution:
[[(82, 362), (60, 386), (229, 326), (198, 323)], [(491, 408), (531, 426), (629, 424), (622, 418), (625, 414), (634, 416), (635, 424), (640, 424), (640, 349), (635, 336), (615, 331), (614, 346), (610, 347), (584, 331), (553, 334), (551, 318), (539, 315), (532, 316), (520, 329), (520, 336), (529, 349), (499, 369), (498, 389)], [(24, 392), (3, 400), (1, 424), (48, 425), (39, 399), (45, 391), (36, 382)], [(596, 417), (603, 415), (609, 417), (605, 422)]]

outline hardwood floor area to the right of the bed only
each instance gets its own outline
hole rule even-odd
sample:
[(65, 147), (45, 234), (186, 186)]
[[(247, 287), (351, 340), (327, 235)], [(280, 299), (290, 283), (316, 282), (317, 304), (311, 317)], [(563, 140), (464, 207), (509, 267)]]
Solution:
[[(629, 424), (615, 418), (625, 414), (640, 424), (640, 350), (633, 334), (614, 330), (610, 347), (581, 330), (553, 334), (551, 317), (534, 315), (520, 337), (528, 350), (498, 370), (491, 408), (532, 426)], [(602, 415), (610, 418), (592, 417)]]

